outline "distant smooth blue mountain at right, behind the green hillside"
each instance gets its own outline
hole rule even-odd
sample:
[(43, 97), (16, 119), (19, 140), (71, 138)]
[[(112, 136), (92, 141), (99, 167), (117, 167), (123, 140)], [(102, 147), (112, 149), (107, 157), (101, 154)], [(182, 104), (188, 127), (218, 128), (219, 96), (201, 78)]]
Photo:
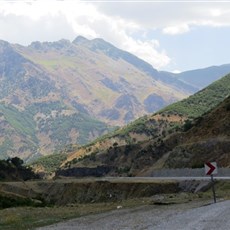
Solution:
[(230, 73), (230, 64), (210, 66), (208, 68), (190, 70), (178, 74), (166, 72), (165, 75), (174, 76), (182, 82), (200, 90), (228, 73)]

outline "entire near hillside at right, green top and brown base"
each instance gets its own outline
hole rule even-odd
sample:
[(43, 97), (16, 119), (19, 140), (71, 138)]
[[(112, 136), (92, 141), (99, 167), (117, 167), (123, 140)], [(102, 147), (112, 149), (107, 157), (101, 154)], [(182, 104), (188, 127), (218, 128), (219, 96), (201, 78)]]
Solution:
[(229, 96), (227, 75), (187, 99), (80, 148), (62, 168), (68, 172), (107, 166), (112, 175), (140, 175), (164, 167), (203, 167), (208, 160), (227, 167)]

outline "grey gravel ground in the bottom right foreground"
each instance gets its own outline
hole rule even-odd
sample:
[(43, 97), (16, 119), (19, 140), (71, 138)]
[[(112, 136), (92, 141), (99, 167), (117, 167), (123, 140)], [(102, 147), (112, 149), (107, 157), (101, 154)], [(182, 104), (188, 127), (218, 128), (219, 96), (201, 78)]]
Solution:
[[(230, 200), (201, 207), (201, 204), (118, 209), (89, 215), (39, 230), (227, 230), (230, 229)], [(38, 230), (37, 229), (37, 230)]]

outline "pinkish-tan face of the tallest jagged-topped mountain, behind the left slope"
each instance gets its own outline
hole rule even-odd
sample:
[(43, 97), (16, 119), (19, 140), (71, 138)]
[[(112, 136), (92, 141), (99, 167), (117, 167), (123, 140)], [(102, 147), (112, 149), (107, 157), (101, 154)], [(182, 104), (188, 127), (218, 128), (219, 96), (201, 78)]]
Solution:
[(194, 92), (176, 78), (170, 85), (150, 64), (102, 39), (34, 42), (16, 49), (48, 72), (72, 103), (115, 126)]

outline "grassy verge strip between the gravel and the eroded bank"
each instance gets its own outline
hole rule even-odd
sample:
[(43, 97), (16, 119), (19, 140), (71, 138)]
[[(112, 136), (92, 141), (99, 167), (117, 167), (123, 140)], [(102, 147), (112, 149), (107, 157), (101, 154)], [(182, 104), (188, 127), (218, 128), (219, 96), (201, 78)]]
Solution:
[[(215, 184), (217, 201), (230, 199), (230, 181), (218, 181)], [(143, 205), (152, 205), (153, 208), (160, 206), (175, 205), (175, 208), (192, 208), (212, 203), (212, 190), (198, 194), (194, 193), (157, 193), (149, 197), (138, 197), (133, 199), (79, 204), (73, 203), (67, 206), (53, 207), (14, 207), (0, 210), (0, 229), (3, 230), (25, 230), (47, 226), (69, 219), (98, 214), (110, 210), (122, 208), (134, 208)]]

